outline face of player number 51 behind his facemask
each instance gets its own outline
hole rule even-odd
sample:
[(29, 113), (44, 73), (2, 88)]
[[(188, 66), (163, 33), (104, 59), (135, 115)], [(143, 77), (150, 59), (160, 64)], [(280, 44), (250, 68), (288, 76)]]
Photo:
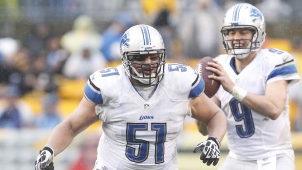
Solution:
[(151, 75), (152, 73), (156, 73), (160, 57), (159, 54), (139, 55), (133, 56), (131, 61), (138, 73)]

